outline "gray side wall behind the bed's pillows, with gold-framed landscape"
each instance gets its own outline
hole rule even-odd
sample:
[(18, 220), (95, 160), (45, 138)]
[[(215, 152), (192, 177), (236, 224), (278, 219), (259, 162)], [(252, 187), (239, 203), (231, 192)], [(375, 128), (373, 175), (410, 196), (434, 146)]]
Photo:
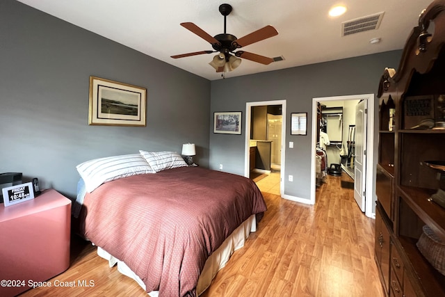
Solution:
[[(13, 0), (0, 0), (0, 172), (73, 197), (75, 166), (197, 145), (209, 164), (210, 81)], [(88, 125), (89, 77), (147, 88), (147, 127)]]

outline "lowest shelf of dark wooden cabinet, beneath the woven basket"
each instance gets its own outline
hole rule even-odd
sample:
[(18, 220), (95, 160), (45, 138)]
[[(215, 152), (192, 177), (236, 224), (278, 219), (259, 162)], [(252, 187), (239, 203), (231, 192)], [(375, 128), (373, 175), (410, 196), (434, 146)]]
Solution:
[(426, 292), (426, 296), (445, 296), (445, 275), (442, 275), (428, 263), (416, 246), (416, 239), (399, 236), (405, 254), (414, 268), (416, 278)]

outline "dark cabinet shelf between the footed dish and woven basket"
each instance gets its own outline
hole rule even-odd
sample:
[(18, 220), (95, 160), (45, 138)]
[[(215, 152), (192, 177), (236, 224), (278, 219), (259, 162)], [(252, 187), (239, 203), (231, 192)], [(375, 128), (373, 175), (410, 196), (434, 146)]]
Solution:
[[(428, 201), (435, 191), (426, 188), (399, 186), (401, 198), (428, 225), (437, 236), (445, 239), (445, 209), (432, 201)], [(403, 223), (403, 222), (401, 222)]]

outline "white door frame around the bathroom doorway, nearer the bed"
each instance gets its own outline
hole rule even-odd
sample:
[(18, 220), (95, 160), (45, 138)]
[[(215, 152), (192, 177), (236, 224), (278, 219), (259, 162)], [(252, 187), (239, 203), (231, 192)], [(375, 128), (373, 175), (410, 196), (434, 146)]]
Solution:
[(281, 105), (282, 106), (282, 127), (281, 127), (281, 170), (280, 170), (280, 195), (284, 193), (284, 179), (282, 178), (282, 172), (285, 170), (285, 148), (286, 148), (286, 100), (272, 100), (272, 101), (259, 101), (259, 102), (246, 102), (245, 104), (245, 151), (244, 151), (244, 176), (250, 176), (250, 119), (252, 106), (267, 106), (267, 105)]

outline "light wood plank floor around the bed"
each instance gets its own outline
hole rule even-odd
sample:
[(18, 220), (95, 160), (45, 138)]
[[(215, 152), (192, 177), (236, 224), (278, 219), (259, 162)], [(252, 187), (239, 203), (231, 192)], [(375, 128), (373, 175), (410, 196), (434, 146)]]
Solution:
[[(383, 296), (374, 220), (359, 211), (340, 179), (327, 177), (314, 206), (264, 193), (268, 211), (258, 231), (202, 296)], [(88, 243), (74, 239), (72, 246), (70, 268), (53, 281), (92, 280), (94, 287), (37, 288), (22, 296), (147, 296)]]

